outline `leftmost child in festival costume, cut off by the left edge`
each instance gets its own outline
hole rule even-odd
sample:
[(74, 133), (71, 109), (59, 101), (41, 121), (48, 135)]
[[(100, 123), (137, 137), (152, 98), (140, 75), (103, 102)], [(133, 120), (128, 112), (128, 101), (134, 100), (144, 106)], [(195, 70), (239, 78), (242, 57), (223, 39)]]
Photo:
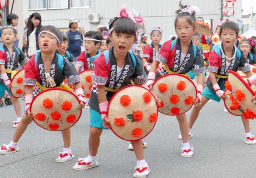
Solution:
[(22, 117), (20, 102), (18, 98), (12, 96), (9, 90), (12, 85), (10, 82), (11, 75), (17, 69), (19, 63), (22, 67), (25, 67), (29, 60), (22, 50), (14, 47), (16, 34), (16, 29), (13, 26), (5, 26), (1, 29), (1, 41), (4, 45), (0, 47), (0, 100), (4, 97), (4, 91), (7, 90), (17, 115), (17, 121), (13, 121), (12, 127), (17, 127)]

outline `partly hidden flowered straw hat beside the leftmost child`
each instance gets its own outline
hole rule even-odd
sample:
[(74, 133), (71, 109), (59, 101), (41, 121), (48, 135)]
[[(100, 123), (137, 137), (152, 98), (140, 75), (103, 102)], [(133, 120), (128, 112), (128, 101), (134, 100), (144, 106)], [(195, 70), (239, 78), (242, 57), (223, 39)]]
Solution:
[[(25, 78), (25, 70), (21, 69), (19, 70), (12, 78), (11, 82), (12, 82), (12, 86), (10, 88), (10, 92), (12, 93), (12, 96), (15, 98), (21, 98), (22, 96), (24, 96), (24, 78)], [(18, 79), (18, 80), (17, 80)], [(21, 83), (18, 83), (17, 81), (19, 81), (20, 79), (22, 79)], [(19, 94), (19, 92), (22, 90), (22, 92)]]

